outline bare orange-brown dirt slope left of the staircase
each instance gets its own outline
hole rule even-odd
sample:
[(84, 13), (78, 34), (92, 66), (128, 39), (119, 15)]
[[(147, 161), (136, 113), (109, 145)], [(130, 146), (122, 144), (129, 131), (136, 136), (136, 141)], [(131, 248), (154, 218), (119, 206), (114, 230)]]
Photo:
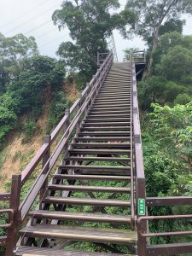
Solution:
[[(74, 102), (79, 94), (76, 90), (75, 84), (64, 84), (64, 94), (67, 99)], [(4, 190), (4, 184), (9, 181), (12, 174), (20, 173), (25, 166), (32, 160), (32, 157), (38, 152), (38, 149), (44, 143), (44, 133), (46, 131), (48, 117), (49, 117), (49, 92), (46, 93), (46, 100), (44, 103), (44, 114), (38, 119), (38, 133), (32, 137), (30, 143), (22, 143), (24, 135), (20, 131), (12, 131), (9, 133), (7, 139), (7, 146), (1, 152), (0, 165), (0, 192)], [(20, 122), (25, 123), (27, 116), (20, 118)]]

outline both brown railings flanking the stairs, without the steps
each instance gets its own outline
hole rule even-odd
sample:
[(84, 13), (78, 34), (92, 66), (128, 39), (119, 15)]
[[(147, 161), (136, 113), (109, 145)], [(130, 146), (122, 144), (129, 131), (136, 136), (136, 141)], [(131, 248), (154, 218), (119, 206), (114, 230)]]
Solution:
[[(148, 207), (192, 205), (192, 197), (146, 197), (146, 181), (143, 168), (143, 150), (137, 102), (137, 74), (134, 62), (134, 60), (136, 60), (134, 57), (135, 54), (138, 57), (138, 52), (134, 53), (131, 57), (131, 228), (133, 229), (134, 225), (137, 223), (137, 254), (138, 256), (146, 256), (191, 253), (192, 242), (166, 245), (150, 245), (148, 242), (150, 237), (156, 236), (192, 235), (192, 231), (185, 230), (161, 233), (150, 233), (148, 231), (148, 221), (192, 218), (192, 215), (148, 216)], [(145, 60), (145, 52), (144, 54), (142, 52), (141, 55), (141, 58), (144, 56), (143, 60)], [(96, 76), (93, 76), (90, 83), (86, 84), (87, 86), (79, 96), (79, 99), (74, 102), (72, 108), (66, 111), (59, 125), (55, 127), (55, 130), (50, 135), (45, 137), (44, 145), (38, 150), (38, 153), (34, 156), (28, 166), (26, 166), (26, 169), (21, 175), (14, 175), (12, 177), (11, 192), (0, 194), (0, 201), (9, 201), (9, 209), (0, 210), (0, 213), (9, 213), (8, 223), (0, 226), (0, 228), (7, 229), (7, 236), (0, 237), (0, 246), (6, 246), (7, 248), (5, 256), (14, 256), (14, 248), (16, 246), (20, 224), (26, 220), (26, 214), (29, 212), (36, 198), (39, 196), (40, 202), (44, 199), (44, 195), (46, 195), (48, 188), (48, 177), (50, 177), (49, 175), (59, 156), (61, 154), (67, 154), (69, 138), (73, 135), (74, 131), (79, 130), (80, 123), (84, 118), (84, 115), (88, 113), (90, 104), (94, 101), (112, 63), (113, 53), (111, 52), (102, 63)], [(76, 114), (72, 119), (74, 113)], [(61, 140), (54, 146), (53, 143), (60, 134), (62, 134)], [(54, 150), (51, 150), (51, 146), (55, 147)], [(40, 163), (42, 163), (42, 170), (36, 181), (32, 184), (32, 188), (26, 195), (26, 198), (20, 203), (20, 191)], [(138, 212), (137, 202), (138, 199), (141, 198), (146, 201), (146, 211), (144, 216), (140, 216)], [(42, 207), (43, 206), (40, 203), (39, 208)], [(137, 214), (137, 219), (135, 218), (135, 214)]]

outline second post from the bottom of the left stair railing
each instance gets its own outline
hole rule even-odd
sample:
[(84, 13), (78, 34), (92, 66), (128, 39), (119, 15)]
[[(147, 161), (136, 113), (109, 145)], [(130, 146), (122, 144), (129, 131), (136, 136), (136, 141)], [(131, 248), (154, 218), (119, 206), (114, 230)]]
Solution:
[[(44, 136), (44, 143), (49, 144), (46, 152), (44, 153), (44, 157), (43, 157), (43, 161), (42, 161), (42, 169), (44, 168), (45, 164), (47, 163), (47, 161), (49, 160), (49, 156), (50, 156), (50, 135), (45, 135)], [(49, 165), (46, 166), (46, 168), (44, 169), (44, 174), (46, 172), (49, 171)], [(41, 189), (40, 189), (40, 198), (39, 198), (39, 208), (42, 209), (42, 200), (45, 197), (45, 194), (47, 193), (47, 188), (48, 188), (48, 178), (45, 180), (44, 184), (42, 185)]]

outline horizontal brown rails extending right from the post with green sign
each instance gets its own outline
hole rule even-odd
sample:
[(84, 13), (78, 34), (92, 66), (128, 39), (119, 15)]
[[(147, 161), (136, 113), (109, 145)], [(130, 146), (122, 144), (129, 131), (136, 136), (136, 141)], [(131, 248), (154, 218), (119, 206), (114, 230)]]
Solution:
[[(172, 206), (191, 206), (192, 196), (172, 196), (172, 197), (147, 197), (147, 207), (172, 207)], [(182, 230), (174, 232), (155, 232), (150, 233), (147, 230), (143, 230), (147, 221), (163, 220), (163, 219), (188, 219), (192, 220), (191, 215), (164, 215), (164, 216), (147, 216), (139, 218), (138, 220), (138, 234), (147, 239), (150, 237), (160, 236), (189, 236), (192, 235), (192, 230)], [(173, 255), (179, 253), (191, 253), (192, 242), (171, 243), (171, 244), (157, 244), (147, 245), (145, 254), (143, 255)]]

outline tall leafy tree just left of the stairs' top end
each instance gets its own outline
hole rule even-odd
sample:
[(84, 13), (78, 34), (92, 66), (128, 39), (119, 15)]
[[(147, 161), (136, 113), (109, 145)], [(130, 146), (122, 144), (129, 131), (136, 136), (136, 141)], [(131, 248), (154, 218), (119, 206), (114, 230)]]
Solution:
[(113, 29), (123, 30), (127, 23), (133, 24), (135, 15), (126, 9), (117, 13), (119, 0), (71, 0), (63, 1), (61, 9), (52, 16), (55, 25), (67, 26), (72, 42), (62, 43), (58, 55), (67, 66), (77, 68), (81, 73), (96, 72), (96, 52), (106, 52), (106, 39)]

